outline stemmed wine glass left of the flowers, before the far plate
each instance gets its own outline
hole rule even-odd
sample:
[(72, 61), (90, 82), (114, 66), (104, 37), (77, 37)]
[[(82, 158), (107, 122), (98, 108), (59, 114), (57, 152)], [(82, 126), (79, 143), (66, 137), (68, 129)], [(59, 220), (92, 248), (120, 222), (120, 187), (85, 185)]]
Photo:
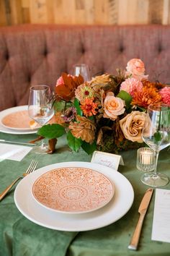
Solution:
[[(40, 126), (46, 124), (53, 116), (53, 102), (50, 101), (50, 87), (48, 85), (35, 85), (30, 88), (30, 97), (28, 101), (28, 114)], [(41, 145), (34, 147), (35, 153), (47, 153), (48, 145), (44, 140)]]

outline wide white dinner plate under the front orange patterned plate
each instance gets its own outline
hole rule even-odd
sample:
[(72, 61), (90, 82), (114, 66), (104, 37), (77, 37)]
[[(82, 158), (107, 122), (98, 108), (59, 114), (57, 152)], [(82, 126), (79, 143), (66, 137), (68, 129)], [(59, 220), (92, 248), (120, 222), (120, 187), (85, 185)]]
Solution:
[[(109, 181), (114, 185), (114, 197), (112, 197), (112, 200), (107, 205), (91, 213), (57, 213), (43, 207), (33, 197), (32, 185), (40, 175), (45, 174), (45, 172), (53, 168), (61, 167), (85, 167), (99, 171), (101, 174), (107, 176)], [(61, 231), (88, 231), (114, 223), (128, 212), (133, 204), (133, 200), (133, 187), (125, 176), (107, 166), (87, 162), (55, 163), (42, 167), (24, 177), (14, 192), (14, 202), (23, 216), (40, 226)]]

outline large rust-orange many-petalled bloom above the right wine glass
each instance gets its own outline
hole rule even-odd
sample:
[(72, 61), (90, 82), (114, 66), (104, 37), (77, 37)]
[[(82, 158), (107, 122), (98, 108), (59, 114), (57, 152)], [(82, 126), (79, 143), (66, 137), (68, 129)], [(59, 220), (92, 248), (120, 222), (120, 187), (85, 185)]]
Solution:
[(141, 106), (143, 108), (148, 108), (150, 104), (160, 103), (161, 95), (158, 90), (154, 87), (144, 86), (141, 91), (136, 91), (133, 95), (133, 106)]

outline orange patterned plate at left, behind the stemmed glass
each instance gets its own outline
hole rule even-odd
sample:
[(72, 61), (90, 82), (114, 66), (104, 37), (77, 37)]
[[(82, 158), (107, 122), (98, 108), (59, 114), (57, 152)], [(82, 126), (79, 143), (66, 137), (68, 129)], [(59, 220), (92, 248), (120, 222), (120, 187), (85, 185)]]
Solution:
[(8, 114), (4, 116), (4, 118), (1, 120), (1, 123), (4, 125), (6, 128), (10, 129), (35, 129), (39, 127), (32, 127), (31, 124), (31, 119), (30, 116), (28, 115), (28, 111), (17, 111), (11, 114)]

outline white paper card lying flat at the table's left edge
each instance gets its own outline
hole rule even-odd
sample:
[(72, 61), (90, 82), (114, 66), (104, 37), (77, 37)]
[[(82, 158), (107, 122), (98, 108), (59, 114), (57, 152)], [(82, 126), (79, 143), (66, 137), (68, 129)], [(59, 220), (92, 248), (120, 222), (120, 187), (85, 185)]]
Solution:
[(32, 150), (32, 147), (0, 143), (0, 159), (22, 161), (30, 150)]

